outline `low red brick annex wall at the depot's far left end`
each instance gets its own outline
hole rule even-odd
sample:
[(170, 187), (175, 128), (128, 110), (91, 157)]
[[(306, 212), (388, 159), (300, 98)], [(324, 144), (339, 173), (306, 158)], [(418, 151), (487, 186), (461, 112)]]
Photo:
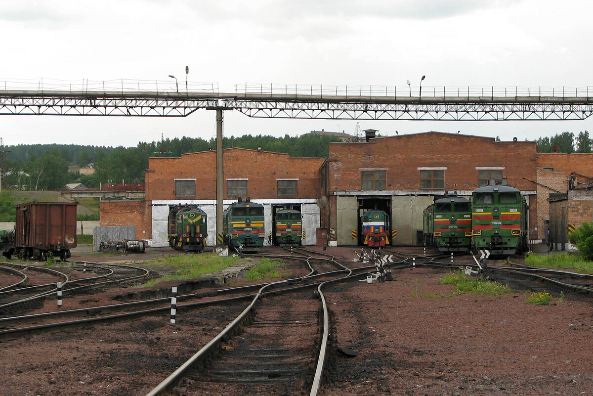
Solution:
[(135, 225), (136, 239), (152, 238), (152, 210), (148, 201), (101, 202), (100, 225)]

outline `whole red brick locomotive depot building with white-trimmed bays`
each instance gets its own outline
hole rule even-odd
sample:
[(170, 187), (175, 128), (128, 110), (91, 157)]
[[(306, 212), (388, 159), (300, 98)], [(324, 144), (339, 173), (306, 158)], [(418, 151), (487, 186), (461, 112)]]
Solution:
[[(330, 143), (328, 158), (232, 148), (224, 150), (224, 205), (250, 197), (264, 205), (266, 234), (272, 215), (301, 210), (305, 245), (317, 228), (330, 245), (357, 244), (368, 209), (390, 215), (394, 244), (417, 244), (422, 211), (446, 192), (470, 197), (490, 178), (506, 178), (527, 198), (530, 238), (546, 238), (550, 193), (566, 193), (571, 173), (593, 174), (591, 154), (537, 154), (535, 142), (500, 142), (458, 133), (426, 132)], [(586, 165), (585, 165), (586, 164)], [(199, 205), (208, 215), (208, 244), (215, 244), (216, 152), (150, 158), (142, 201), (101, 202), (101, 225), (136, 225), (136, 237), (167, 246), (170, 207)]]

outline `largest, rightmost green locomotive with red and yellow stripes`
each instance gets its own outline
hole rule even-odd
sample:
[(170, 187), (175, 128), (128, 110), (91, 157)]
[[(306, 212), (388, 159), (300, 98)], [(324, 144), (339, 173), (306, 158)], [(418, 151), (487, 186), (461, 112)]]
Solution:
[(477, 249), (490, 254), (519, 254), (528, 250), (528, 206), (521, 191), (503, 184), (474, 190), (471, 196), (472, 234)]

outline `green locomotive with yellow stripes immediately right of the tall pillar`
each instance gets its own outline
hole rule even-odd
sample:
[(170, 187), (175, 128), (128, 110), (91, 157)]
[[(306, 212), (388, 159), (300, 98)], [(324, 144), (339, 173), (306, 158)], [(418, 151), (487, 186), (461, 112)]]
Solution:
[(222, 216), (222, 234), (227, 245), (235, 248), (263, 246), (266, 237), (263, 205), (250, 202), (249, 199), (239, 199), (237, 203), (227, 207)]

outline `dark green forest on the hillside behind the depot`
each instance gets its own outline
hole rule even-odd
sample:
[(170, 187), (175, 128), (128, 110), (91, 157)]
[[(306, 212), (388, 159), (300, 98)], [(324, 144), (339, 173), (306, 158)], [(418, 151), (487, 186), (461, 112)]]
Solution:
[[(224, 148), (261, 148), (263, 151), (282, 152), (291, 157), (327, 157), (329, 143), (339, 139), (329, 136), (285, 135), (274, 136), (243, 135), (224, 138)], [(537, 139), (537, 151), (592, 152), (589, 132), (557, 133), (551, 137)], [(180, 157), (189, 152), (216, 149), (216, 140), (201, 138), (163, 139), (158, 142), (139, 142), (132, 148), (82, 145), (17, 145), (3, 146), (4, 161), (0, 163), (2, 180), (0, 190), (40, 191), (62, 190), (67, 183), (83, 183), (87, 187), (98, 187), (100, 183), (143, 183), (144, 171), (150, 157)], [(72, 165), (93, 167), (92, 175), (69, 172)], [(1, 191), (0, 191), (1, 192)]]

